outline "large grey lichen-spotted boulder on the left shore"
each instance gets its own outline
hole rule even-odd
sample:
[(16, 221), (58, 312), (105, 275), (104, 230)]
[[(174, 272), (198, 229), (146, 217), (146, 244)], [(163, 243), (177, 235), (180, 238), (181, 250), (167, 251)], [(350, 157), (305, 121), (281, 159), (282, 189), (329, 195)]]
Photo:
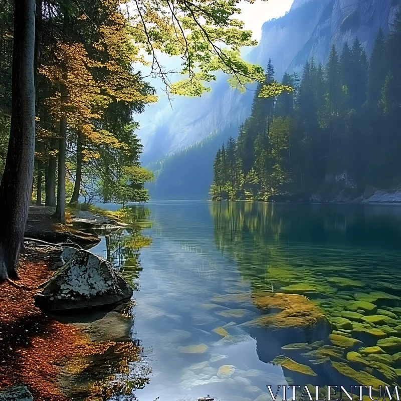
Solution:
[(35, 296), (46, 310), (110, 305), (132, 296), (132, 288), (110, 262), (84, 250), (77, 251)]

